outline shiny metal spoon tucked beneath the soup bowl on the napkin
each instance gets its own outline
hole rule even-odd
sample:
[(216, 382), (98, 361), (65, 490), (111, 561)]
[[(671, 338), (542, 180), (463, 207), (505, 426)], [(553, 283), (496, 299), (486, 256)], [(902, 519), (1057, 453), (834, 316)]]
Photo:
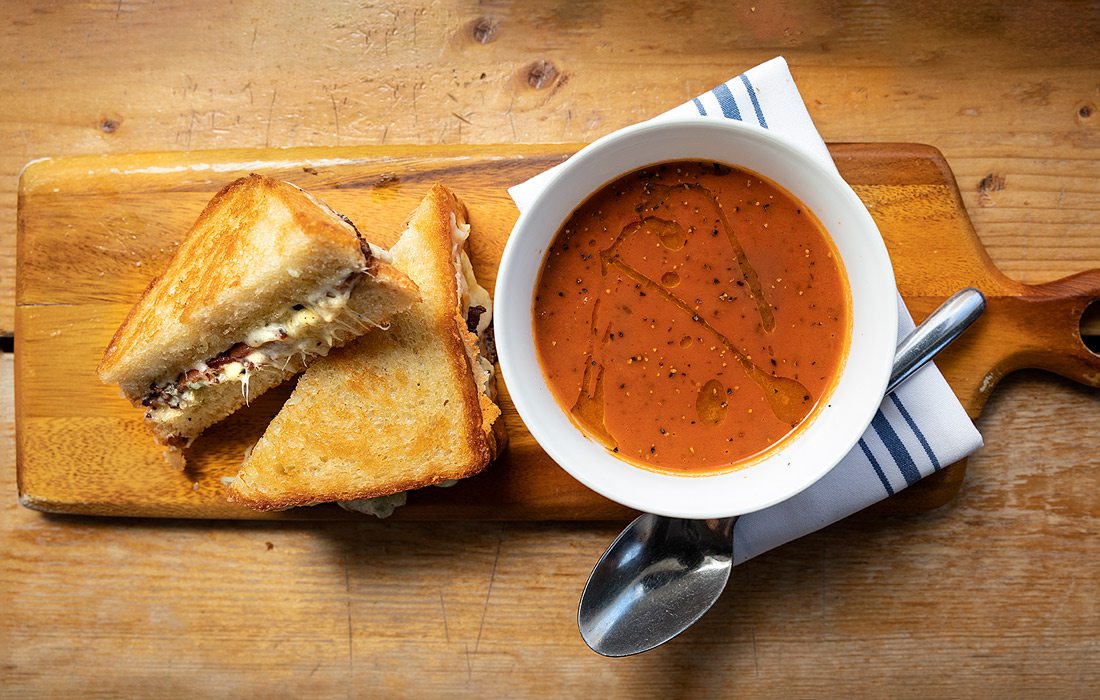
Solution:
[[(986, 298), (956, 293), (904, 338), (887, 393), (978, 319)], [(718, 600), (729, 580), (737, 517), (693, 521), (646, 513), (615, 538), (581, 593), (576, 622), (584, 643), (604, 656), (663, 644)]]

